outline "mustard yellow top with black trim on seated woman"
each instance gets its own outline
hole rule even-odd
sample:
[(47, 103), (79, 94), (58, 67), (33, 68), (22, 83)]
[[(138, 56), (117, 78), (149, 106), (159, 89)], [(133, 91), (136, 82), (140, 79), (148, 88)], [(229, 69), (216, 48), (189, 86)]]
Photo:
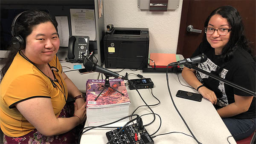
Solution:
[[(53, 71), (58, 82), (51, 82), (19, 52), (15, 56), (0, 84), (0, 127), (4, 134), (19, 137), (35, 129), (15, 107), (20, 101), (38, 97), (51, 98), (56, 117), (60, 114), (66, 103), (67, 86), (61, 77), (62, 68), (56, 56), (49, 65), (59, 70), (59, 72)], [(52, 83), (55, 83), (56, 87)]]

